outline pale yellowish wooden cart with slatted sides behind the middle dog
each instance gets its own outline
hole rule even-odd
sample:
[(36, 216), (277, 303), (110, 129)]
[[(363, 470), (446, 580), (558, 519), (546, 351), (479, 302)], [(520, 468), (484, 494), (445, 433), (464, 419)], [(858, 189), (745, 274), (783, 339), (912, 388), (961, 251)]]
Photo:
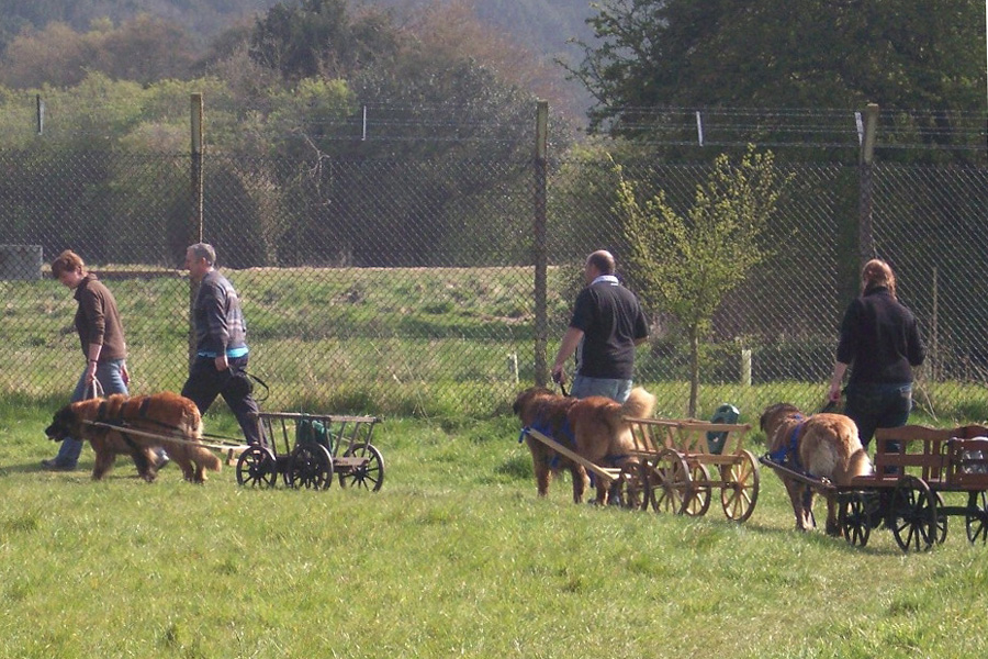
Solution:
[[(744, 448), (748, 424), (697, 420), (627, 417), (637, 462), (619, 474), (621, 503), (628, 507), (700, 516), (715, 490), (728, 520), (744, 522), (759, 499), (759, 461)], [(654, 447), (654, 448), (651, 448)]]

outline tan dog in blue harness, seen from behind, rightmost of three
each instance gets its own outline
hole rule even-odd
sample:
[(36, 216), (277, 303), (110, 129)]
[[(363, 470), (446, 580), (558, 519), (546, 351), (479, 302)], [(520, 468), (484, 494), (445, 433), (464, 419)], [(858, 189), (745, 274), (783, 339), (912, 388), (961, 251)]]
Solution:
[[(762, 414), (761, 426), (770, 456), (794, 471), (826, 478), (837, 485), (850, 485), (854, 477), (873, 471), (868, 454), (857, 437), (857, 426), (843, 414), (804, 416), (796, 406), (777, 403)], [(812, 528), (813, 489), (782, 471), (776, 473), (793, 502), (796, 529)], [(837, 536), (841, 534), (837, 496), (828, 493), (826, 498), (827, 534)]]

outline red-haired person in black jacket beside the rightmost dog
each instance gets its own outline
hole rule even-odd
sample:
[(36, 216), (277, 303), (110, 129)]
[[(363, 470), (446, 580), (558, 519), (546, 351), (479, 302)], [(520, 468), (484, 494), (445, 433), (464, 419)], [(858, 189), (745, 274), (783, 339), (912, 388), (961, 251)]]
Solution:
[(844, 414), (857, 424), (867, 449), (875, 428), (906, 425), (912, 410), (912, 369), (922, 365), (927, 350), (916, 316), (896, 298), (896, 276), (887, 263), (866, 263), (861, 286), (861, 297), (851, 302), (841, 323), (829, 399), (841, 400), (841, 381), (851, 367)]

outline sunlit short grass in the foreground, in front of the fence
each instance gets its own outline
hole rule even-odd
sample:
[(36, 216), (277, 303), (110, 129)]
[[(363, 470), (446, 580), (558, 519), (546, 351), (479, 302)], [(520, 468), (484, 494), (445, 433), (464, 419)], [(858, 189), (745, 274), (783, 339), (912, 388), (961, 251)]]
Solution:
[[(378, 493), (48, 473), (0, 402), (0, 658), (984, 657), (988, 547), (796, 534), (775, 474), (728, 522), (535, 495), (518, 425), (386, 420)], [(224, 414), (209, 432), (231, 434)], [(761, 437), (749, 448), (764, 451)], [(822, 511), (818, 509), (822, 515)]]

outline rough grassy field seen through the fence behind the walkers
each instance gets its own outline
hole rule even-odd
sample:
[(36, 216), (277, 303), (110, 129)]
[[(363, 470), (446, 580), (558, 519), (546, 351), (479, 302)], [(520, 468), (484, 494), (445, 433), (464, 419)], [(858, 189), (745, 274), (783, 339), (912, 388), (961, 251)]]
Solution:
[[(244, 300), (250, 370), (271, 386), (268, 409), (491, 418), (507, 411), (519, 386), (535, 381), (531, 268), (226, 273)], [(188, 372), (186, 276), (109, 268), (103, 277), (126, 327), (132, 391), (180, 390)], [(549, 271), (550, 360), (579, 281), (566, 268)], [(70, 327), (76, 311), (71, 293), (50, 279), (0, 281), (0, 334), (5, 337), (0, 344), (0, 394), (67, 396), (82, 368)], [(709, 417), (725, 402), (754, 416), (779, 401), (818, 409), (837, 340), (822, 332), (782, 342), (785, 349), (740, 339), (710, 346), (697, 415)], [(753, 387), (742, 386), (736, 373), (744, 347), (754, 348)], [(686, 414), (685, 366), (683, 346), (669, 337), (653, 337), (637, 353), (636, 377), (658, 396), (661, 415)], [(923, 382), (919, 412), (944, 425), (985, 421), (988, 396), (976, 376), (973, 370), (963, 382)]]

